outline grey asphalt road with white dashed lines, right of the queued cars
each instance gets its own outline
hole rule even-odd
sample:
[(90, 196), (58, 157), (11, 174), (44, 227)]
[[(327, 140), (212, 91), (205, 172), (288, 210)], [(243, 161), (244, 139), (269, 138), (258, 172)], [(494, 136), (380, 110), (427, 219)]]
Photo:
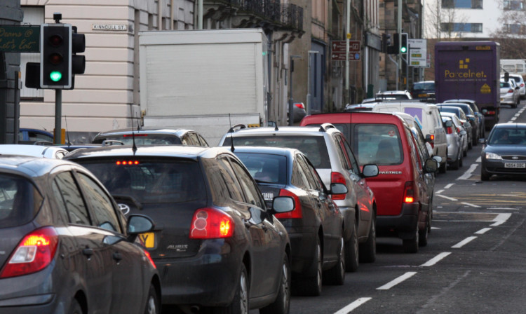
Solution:
[[(503, 106), (500, 122), (526, 122), (524, 109)], [(481, 182), (481, 149), (436, 178), (426, 247), (405, 254), (378, 238), (375, 263), (321, 296), (292, 296), (290, 313), (526, 313), (526, 178)]]

